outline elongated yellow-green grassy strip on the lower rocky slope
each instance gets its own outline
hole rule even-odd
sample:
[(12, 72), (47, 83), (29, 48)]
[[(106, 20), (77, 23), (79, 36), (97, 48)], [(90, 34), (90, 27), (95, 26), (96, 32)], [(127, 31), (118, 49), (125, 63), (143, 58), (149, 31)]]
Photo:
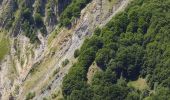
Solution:
[[(41, 90), (44, 90), (44, 88), (46, 88), (46, 86), (50, 82), (51, 78), (44, 79), (44, 77), (46, 77), (48, 69), (52, 69), (51, 67), (54, 66), (56, 60), (54, 60), (54, 57), (50, 57), (50, 58), (46, 57), (46, 58), (48, 59), (34, 66), (35, 69), (32, 70), (32, 73), (24, 83), (23, 94), (27, 94), (28, 93), (27, 91), (30, 91), (33, 88), (39, 90), (36, 91), (36, 93), (41, 92)], [(49, 77), (53, 77), (52, 75), (53, 73), (51, 73)]]

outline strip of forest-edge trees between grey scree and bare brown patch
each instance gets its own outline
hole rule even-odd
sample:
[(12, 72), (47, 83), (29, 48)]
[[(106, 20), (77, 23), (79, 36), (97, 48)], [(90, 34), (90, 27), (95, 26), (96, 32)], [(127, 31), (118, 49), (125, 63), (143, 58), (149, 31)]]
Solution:
[[(92, 46), (89, 44), (92, 44)], [(96, 53), (96, 50), (98, 50), (99, 47), (101, 46), (101, 41), (99, 39), (95, 41), (88, 41), (88, 42), (85, 42), (84, 45), (86, 47), (88, 46), (91, 46), (91, 47), (88, 47), (88, 49), (82, 49), (84, 47), (81, 48), (81, 53), (78, 58), (78, 63), (73, 65), (73, 67), (69, 71), (69, 74), (66, 75), (66, 77), (63, 80), (62, 90), (63, 90), (63, 95), (65, 98), (77, 98), (77, 97), (72, 97), (77, 93), (75, 90), (82, 89), (83, 91), (87, 91), (86, 89), (88, 85), (85, 82), (86, 73), (88, 71), (88, 68), (90, 67), (90, 65), (93, 63), (95, 59), (95, 53)], [(76, 93), (72, 94), (73, 91), (75, 91)], [(85, 93), (86, 94), (84, 95), (89, 95), (88, 92), (85, 92)], [(70, 95), (71, 97), (69, 97)], [(78, 97), (81, 97), (81, 96), (78, 96)]]

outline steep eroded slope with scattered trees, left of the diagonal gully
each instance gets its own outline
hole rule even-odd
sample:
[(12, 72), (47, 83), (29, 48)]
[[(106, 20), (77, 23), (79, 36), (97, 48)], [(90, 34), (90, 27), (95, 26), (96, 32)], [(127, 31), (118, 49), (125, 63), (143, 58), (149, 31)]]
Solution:
[[(45, 59), (46, 52), (46, 55), (51, 53), (51, 48), (47, 48), (47, 35), (54, 31), (60, 14), (72, 3), (62, 1), (0, 1), (0, 99), (1, 96), (2, 99), (17, 97), (32, 68)], [(90, 2), (84, 1), (81, 1), (81, 9)]]

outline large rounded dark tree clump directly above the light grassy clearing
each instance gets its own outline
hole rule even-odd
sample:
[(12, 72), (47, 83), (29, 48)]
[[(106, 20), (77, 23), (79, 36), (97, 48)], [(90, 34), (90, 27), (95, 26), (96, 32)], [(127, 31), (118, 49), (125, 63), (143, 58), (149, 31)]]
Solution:
[(139, 45), (120, 47), (116, 54), (116, 65), (111, 66), (118, 70), (116, 71), (118, 75), (121, 73), (127, 79), (137, 79), (143, 63), (143, 55), (143, 48)]

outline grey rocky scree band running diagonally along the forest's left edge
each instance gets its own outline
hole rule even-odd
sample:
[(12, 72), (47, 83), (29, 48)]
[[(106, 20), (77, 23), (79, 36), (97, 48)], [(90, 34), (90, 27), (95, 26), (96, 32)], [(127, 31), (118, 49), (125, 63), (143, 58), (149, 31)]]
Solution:
[[(42, 99), (45, 97), (48, 99), (56, 99), (58, 96), (60, 97), (60, 86), (62, 79), (72, 66), (72, 63), (75, 62), (75, 59), (73, 58), (74, 50), (82, 45), (85, 37), (92, 35), (95, 27), (104, 25), (108, 18), (123, 10), (128, 5), (128, 3), (129, 0), (93, 0), (85, 9), (83, 9), (81, 12), (81, 17), (79, 20), (77, 20), (77, 25), (74, 25), (74, 28), (70, 29), (69, 31), (62, 30), (58, 33), (57, 37), (52, 43), (50, 43), (52, 48), (54, 48), (56, 45), (59, 46), (58, 44), (62, 43), (61, 47), (59, 47), (61, 50), (56, 52), (54, 55), (54, 57), (57, 57), (55, 60), (55, 67), (53, 68), (54, 72), (56, 73), (55, 77), (52, 79), (52, 82), (49, 82), (49, 84), (43, 88), (41, 95), (39, 96), (38, 94), (35, 98)], [(72, 35), (72, 37), (70, 37), (70, 35)], [(63, 61), (67, 59), (69, 59), (70, 63), (62, 67), (61, 65)], [(53, 61), (51, 61), (51, 63), (53, 63)], [(49, 69), (49, 71), (46, 72), (53, 72), (53, 70)], [(47, 75), (45, 74), (44, 77), (48, 77)], [(49, 95), (50, 93), (52, 95)]]

